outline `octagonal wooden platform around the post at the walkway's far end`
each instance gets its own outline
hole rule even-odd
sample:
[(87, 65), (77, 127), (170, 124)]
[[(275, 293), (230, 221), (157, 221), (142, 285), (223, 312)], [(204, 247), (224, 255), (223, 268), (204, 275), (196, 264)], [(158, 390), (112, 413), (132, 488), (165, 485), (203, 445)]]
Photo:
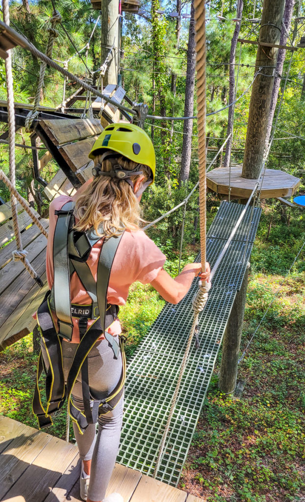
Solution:
[[(246, 199), (251, 195), (256, 180), (242, 178), (242, 166), (231, 166), (231, 195)], [(300, 184), (300, 179), (275, 169), (266, 169), (261, 199), (290, 197)], [(219, 194), (229, 194), (229, 168), (219, 167), (207, 173), (207, 187)], [(259, 184), (259, 189), (261, 182)]]

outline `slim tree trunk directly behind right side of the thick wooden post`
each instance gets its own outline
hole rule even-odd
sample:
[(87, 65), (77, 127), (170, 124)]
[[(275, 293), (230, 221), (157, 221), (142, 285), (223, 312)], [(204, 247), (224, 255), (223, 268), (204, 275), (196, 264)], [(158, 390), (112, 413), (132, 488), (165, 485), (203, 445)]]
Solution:
[[(294, 4), (294, 0), (286, 0), (282, 31), (281, 31), (280, 42), (279, 42), (280, 45), (286, 45), (286, 42), (287, 42), (288, 35), (287, 35), (286, 30), (288, 31), (290, 28), (292, 12), (293, 12), (293, 4)], [(285, 27), (286, 27), (286, 30), (285, 30)], [(283, 67), (284, 67), (284, 61), (285, 61), (285, 54), (286, 54), (285, 49), (278, 50), (276, 70), (275, 70), (276, 76), (274, 78), (274, 84), (273, 84), (273, 89), (272, 89), (265, 148), (268, 147), (268, 143), (269, 143), (269, 138), (270, 138), (271, 129), (272, 129), (272, 120), (273, 120), (273, 116), (274, 116), (274, 112), (275, 112), (277, 96), (278, 96), (278, 91), (279, 91), (279, 86), (280, 86), (280, 81), (281, 81), (280, 77), (278, 77), (277, 75), (282, 74)]]

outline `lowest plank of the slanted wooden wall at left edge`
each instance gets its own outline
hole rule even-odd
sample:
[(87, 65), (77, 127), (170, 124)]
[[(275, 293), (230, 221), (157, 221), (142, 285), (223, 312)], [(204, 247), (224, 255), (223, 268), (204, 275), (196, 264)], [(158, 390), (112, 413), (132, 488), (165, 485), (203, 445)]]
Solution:
[(37, 324), (32, 315), (37, 311), (44, 295), (49, 289), (46, 273), (42, 273), (40, 277), (44, 284), (43, 288), (37, 288), (36, 283), (33, 283), (29, 292), (2, 326), (0, 334), (2, 350), (31, 333)]

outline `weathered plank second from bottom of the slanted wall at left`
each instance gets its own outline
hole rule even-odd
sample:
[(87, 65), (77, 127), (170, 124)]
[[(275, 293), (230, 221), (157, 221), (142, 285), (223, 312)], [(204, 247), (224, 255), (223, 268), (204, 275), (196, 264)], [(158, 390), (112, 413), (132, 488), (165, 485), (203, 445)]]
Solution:
[[(45, 249), (32, 262), (32, 267), (41, 277), (46, 267), (46, 252)], [(14, 312), (17, 306), (22, 302), (32, 287), (40, 291), (38, 284), (32, 279), (30, 274), (24, 269), (19, 276), (18, 281), (14, 281), (0, 296), (0, 326), (3, 326), (5, 321)], [(3, 330), (5, 327), (3, 328)], [(3, 332), (0, 331), (0, 337), (3, 337)]]

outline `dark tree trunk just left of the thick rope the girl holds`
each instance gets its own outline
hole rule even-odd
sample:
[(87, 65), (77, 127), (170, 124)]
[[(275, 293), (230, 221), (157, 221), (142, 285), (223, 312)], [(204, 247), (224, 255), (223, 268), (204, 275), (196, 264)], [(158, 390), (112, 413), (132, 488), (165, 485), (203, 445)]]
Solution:
[[(184, 116), (192, 116), (194, 112), (194, 87), (195, 87), (195, 20), (194, 20), (194, 4), (193, 0), (190, 8), (190, 21), (188, 31), (188, 46), (187, 46), (187, 70), (185, 80), (185, 101), (184, 101)], [(193, 132), (192, 119), (183, 121), (183, 139), (181, 153), (181, 168), (180, 179), (181, 184), (188, 180), (190, 158), (191, 158), (191, 138)]]

